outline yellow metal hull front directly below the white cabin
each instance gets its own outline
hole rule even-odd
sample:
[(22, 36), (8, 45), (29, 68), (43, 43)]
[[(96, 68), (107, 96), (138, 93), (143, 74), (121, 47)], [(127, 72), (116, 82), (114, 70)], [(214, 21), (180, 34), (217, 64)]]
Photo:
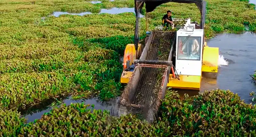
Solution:
[(167, 87), (174, 89), (200, 90), (201, 76), (179, 75), (180, 80), (174, 79), (172, 74), (169, 76)]

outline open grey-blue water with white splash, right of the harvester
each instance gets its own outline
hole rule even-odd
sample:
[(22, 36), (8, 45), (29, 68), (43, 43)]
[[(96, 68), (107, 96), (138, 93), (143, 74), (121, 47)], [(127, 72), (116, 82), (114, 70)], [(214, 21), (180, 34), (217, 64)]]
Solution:
[[(249, 93), (256, 91), (256, 84), (249, 75), (256, 69), (256, 34), (218, 34), (207, 40), (209, 47), (219, 47), (220, 58), (216, 79), (203, 75), (200, 92), (211, 89), (231, 90), (246, 103), (251, 103)], [(224, 59), (222, 58), (224, 57)], [(180, 94), (197, 95), (198, 91), (179, 90)]]

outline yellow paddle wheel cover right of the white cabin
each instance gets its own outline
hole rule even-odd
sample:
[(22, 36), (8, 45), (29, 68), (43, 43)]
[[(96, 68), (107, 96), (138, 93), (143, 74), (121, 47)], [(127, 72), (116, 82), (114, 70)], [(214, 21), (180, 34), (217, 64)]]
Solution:
[(204, 47), (202, 72), (218, 72), (219, 48)]

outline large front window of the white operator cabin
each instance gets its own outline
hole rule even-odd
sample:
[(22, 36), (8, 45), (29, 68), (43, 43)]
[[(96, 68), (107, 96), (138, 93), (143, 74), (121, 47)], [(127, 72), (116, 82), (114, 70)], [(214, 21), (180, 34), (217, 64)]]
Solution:
[(201, 37), (179, 36), (178, 37), (178, 60), (200, 61)]

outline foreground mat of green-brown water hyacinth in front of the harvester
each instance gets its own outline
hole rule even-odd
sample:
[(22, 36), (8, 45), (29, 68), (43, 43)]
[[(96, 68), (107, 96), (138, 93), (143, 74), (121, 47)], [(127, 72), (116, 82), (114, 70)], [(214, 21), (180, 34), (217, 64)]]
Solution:
[(152, 124), (138, 115), (120, 118), (83, 103), (61, 105), (26, 124), (15, 111), (0, 111), (0, 136), (256, 136), (256, 105), (228, 90), (212, 90), (180, 100), (168, 90), (160, 117)]

